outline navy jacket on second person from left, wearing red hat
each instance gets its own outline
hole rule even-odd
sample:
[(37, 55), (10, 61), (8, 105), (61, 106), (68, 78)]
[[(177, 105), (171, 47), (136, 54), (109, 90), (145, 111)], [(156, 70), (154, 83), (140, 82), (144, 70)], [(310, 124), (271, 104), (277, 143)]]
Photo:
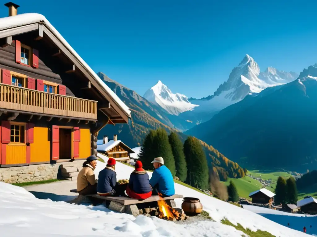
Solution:
[(99, 172), (97, 192), (108, 193), (113, 190), (117, 182), (117, 173), (111, 168), (104, 168)]

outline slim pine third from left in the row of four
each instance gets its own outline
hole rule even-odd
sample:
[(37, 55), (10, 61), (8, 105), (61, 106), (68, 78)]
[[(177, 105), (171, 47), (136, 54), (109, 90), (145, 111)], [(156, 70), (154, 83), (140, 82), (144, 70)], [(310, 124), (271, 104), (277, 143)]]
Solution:
[(184, 155), (183, 143), (179, 139), (176, 132), (171, 132), (168, 136), (169, 143), (171, 144), (172, 152), (175, 159), (176, 176), (180, 181), (185, 181), (187, 177), (187, 167)]

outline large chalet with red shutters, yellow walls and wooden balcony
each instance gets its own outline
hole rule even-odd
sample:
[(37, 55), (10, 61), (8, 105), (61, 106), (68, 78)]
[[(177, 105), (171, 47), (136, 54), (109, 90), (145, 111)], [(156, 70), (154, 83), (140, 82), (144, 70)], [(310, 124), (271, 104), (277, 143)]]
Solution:
[[(0, 181), (76, 179), (98, 131), (129, 108), (40, 14), (0, 18)], [(84, 42), (83, 42), (84, 44)], [(125, 148), (124, 148), (125, 149)]]

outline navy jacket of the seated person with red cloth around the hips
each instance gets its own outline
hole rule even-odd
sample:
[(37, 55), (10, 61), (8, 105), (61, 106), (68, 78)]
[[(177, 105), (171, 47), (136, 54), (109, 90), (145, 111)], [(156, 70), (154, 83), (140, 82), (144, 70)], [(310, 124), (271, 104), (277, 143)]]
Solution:
[(152, 191), (149, 175), (146, 171), (133, 171), (130, 174), (129, 188), (135, 193), (148, 193)]

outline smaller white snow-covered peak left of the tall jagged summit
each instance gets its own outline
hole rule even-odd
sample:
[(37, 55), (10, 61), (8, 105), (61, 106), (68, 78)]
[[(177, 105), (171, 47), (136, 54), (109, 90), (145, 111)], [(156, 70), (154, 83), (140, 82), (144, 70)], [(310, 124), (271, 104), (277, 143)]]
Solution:
[(173, 94), (161, 81), (147, 90), (143, 97), (153, 103), (157, 103), (168, 113), (174, 115), (190, 111), (197, 106), (189, 102), (185, 95), (179, 93)]

